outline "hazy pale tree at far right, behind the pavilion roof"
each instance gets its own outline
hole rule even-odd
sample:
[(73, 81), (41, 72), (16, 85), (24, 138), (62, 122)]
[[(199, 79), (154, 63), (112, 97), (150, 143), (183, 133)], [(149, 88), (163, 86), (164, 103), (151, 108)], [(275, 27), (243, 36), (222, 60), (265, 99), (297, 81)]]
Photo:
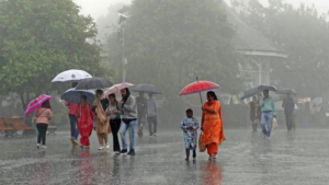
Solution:
[(264, 7), (257, 0), (245, 5), (241, 18), (277, 44), (288, 55), (284, 63), (273, 63), (280, 86), (295, 88), (302, 95), (327, 92), (329, 81), (328, 14), (315, 7), (272, 0)]

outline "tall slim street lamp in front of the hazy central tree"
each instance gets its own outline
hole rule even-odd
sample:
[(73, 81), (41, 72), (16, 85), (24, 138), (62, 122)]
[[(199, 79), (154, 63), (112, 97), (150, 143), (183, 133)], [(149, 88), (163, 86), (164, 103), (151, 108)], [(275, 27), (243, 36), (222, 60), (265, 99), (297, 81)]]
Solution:
[(128, 19), (127, 15), (118, 13), (117, 23), (121, 25), (121, 35), (122, 35), (122, 81), (126, 81), (126, 70), (125, 65), (127, 63), (127, 59), (125, 58), (125, 21)]

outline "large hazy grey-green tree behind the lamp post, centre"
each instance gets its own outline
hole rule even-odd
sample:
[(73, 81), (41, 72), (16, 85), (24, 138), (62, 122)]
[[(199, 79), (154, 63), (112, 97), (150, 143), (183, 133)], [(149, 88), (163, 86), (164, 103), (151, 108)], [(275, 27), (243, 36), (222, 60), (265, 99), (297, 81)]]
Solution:
[[(218, 82), (225, 92), (239, 92), (234, 30), (218, 2), (135, 0), (125, 10), (129, 82), (152, 83), (173, 96), (198, 76)], [(110, 62), (121, 71), (116, 34), (109, 37), (107, 47)]]

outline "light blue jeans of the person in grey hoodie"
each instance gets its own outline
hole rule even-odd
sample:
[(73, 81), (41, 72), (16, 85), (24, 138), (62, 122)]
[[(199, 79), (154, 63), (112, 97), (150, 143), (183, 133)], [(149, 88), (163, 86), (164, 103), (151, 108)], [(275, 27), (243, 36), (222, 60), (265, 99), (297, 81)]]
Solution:
[(121, 127), (121, 139), (122, 139), (122, 149), (127, 149), (126, 142), (126, 132), (129, 129), (129, 139), (131, 139), (131, 148), (129, 150), (135, 150), (135, 129), (137, 125), (137, 119), (132, 120), (129, 124), (122, 123)]

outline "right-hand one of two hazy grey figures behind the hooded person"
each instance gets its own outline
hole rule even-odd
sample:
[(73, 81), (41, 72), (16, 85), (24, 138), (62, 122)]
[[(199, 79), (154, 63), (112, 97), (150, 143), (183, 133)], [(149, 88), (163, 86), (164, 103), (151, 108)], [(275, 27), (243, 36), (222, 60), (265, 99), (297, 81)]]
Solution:
[(157, 104), (154, 100), (154, 94), (148, 94), (148, 100), (146, 103), (146, 116), (147, 116), (147, 123), (148, 123), (148, 131), (149, 137), (157, 137), (157, 127), (158, 127), (158, 120), (157, 120)]

